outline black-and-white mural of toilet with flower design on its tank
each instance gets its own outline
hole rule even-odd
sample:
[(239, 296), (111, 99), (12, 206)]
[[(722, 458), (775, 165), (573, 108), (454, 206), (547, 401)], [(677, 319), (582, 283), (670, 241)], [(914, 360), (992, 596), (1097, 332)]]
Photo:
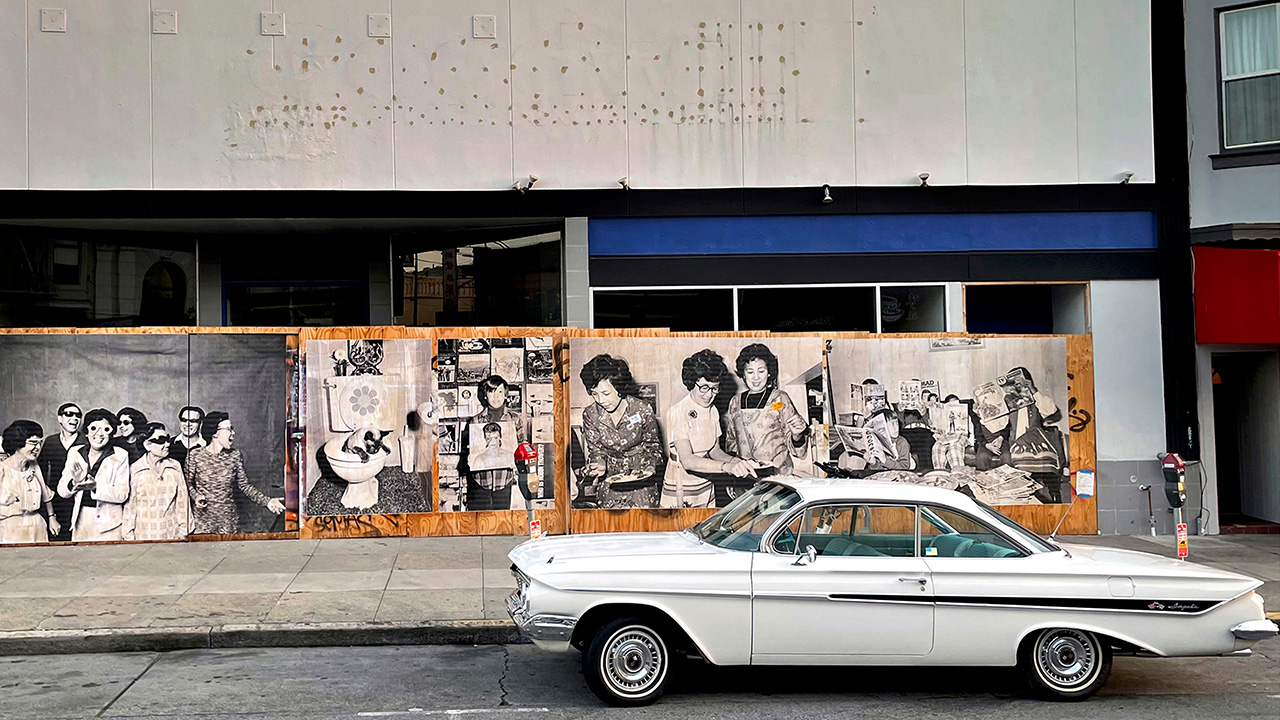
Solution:
[(307, 341), (305, 516), (429, 512), (430, 340)]

